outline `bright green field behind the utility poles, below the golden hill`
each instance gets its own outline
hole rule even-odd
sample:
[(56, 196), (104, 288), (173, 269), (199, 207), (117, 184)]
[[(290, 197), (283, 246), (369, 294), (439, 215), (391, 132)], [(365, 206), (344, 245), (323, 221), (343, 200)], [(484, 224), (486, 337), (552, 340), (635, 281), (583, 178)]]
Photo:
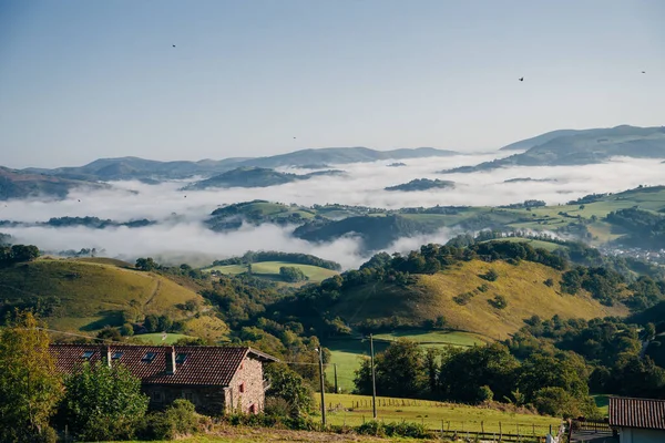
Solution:
[[(392, 340), (398, 338), (408, 338), (413, 341), (422, 342), (427, 348), (443, 348), (447, 346), (469, 347), (475, 343), (487, 341), (484, 337), (461, 331), (422, 331), (403, 330), (375, 336), (375, 353), (382, 352)], [(330, 363), (326, 367), (326, 377), (329, 381), (335, 380), (335, 369), (337, 365), (338, 387), (342, 392), (350, 392), (354, 389), (355, 371), (360, 368), (361, 358), (369, 357), (369, 341), (360, 340), (328, 340), (324, 343), (330, 350)]]

